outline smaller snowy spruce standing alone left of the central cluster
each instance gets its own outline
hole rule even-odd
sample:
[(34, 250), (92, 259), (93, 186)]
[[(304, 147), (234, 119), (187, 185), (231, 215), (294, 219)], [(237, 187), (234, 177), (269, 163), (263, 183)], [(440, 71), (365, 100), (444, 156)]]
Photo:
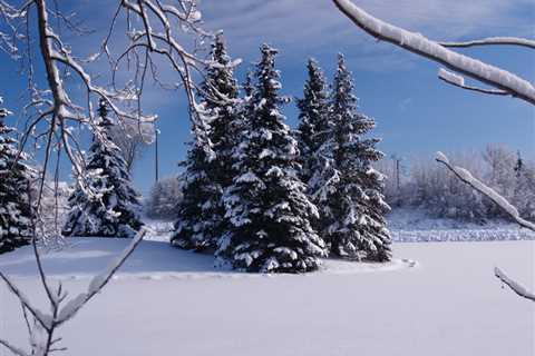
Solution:
[(133, 237), (142, 227), (139, 196), (132, 186), (120, 149), (110, 140), (108, 109), (100, 101), (97, 134), (86, 162), (84, 185), (69, 197), (64, 236)]

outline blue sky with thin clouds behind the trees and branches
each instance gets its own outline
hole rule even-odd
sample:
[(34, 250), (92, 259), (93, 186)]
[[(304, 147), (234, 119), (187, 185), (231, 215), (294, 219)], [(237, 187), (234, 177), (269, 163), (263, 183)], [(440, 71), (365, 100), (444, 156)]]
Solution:
[[(99, 2), (99, 7), (95, 1)], [(86, 26), (103, 28), (113, 16), (115, 1), (82, 0)], [(367, 11), (439, 40), (487, 36), (533, 38), (535, 3), (532, 0), (354, 0)], [(388, 155), (431, 159), (437, 150), (480, 150), (489, 142), (506, 144), (535, 158), (535, 111), (512, 98), (487, 97), (449, 87), (437, 79), (438, 67), (416, 56), (378, 43), (357, 29), (329, 0), (202, 0), (205, 26), (223, 29), (233, 57), (242, 58), (237, 77), (243, 79), (259, 46), (280, 49), (279, 69), (284, 95), (300, 96), (305, 62), (314, 57), (332, 78), (338, 52), (343, 52), (356, 81), (360, 109), (377, 120), (376, 135)], [(98, 10), (98, 13), (96, 12)], [(90, 53), (101, 32), (77, 40), (75, 50)], [(464, 52), (506, 68), (535, 81), (535, 51), (518, 48), (480, 48)], [(13, 62), (0, 57), (7, 99), (17, 102), (25, 81), (13, 73)], [(165, 71), (164, 71), (165, 73)], [(8, 81), (9, 80), (9, 81)], [(185, 156), (188, 119), (183, 92), (153, 90), (144, 99), (146, 111), (158, 113), (160, 176), (178, 171)], [(9, 102), (9, 101), (8, 101)], [(17, 103), (18, 105), (18, 103)], [(295, 125), (294, 105), (284, 108)], [(134, 178), (142, 191), (154, 181), (154, 154), (148, 148), (137, 164)]]

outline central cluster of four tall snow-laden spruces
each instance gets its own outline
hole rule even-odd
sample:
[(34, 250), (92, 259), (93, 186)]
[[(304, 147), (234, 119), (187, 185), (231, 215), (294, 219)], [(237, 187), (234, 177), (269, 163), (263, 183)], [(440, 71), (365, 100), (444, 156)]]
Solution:
[(374, 122), (358, 112), (343, 56), (330, 88), (309, 61), (292, 131), (276, 55), (263, 44), (240, 88), (223, 38), (214, 42), (172, 244), (246, 271), (310, 271), (329, 255), (389, 260), (383, 176), (372, 168), (382, 154), (367, 138)]

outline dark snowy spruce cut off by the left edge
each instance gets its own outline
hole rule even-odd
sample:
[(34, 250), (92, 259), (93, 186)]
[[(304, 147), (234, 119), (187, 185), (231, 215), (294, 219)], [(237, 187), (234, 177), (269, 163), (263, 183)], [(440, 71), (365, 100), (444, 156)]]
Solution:
[(29, 244), (33, 217), (30, 204), (33, 171), (25, 162), (27, 156), (19, 156), (17, 140), (10, 136), (13, 129), (4, 122), (8, 115), (8, 110), (0, 109), (0, 254)]

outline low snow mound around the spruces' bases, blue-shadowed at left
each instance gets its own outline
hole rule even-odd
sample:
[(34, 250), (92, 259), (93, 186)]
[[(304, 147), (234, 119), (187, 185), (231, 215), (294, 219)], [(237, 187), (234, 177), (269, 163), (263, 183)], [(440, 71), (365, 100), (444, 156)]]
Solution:
[[(150, 239), (150, 237), (149, 237)], [(130, 239), (69, 238), (59, 251), (46, 251), (42, 263), (47, 274), (55, 279), (88, 279), (129, 244)], [(322, 268), (312, 275), (360, 274), (391, 271), (414, 267), (416, 263), (396, 259), (388, 264), (325, 260)], [(19, 278), (37, 276), (31, 247), (23, 247), (0, 256), (0, 270)], [(172, 247), (166, 241), (144, 240), (114, 276), (114, 279), (206, 279), (206, 278), (259, 278), (271, 275), (245, 274), (214, 267), (214, 258)]]

